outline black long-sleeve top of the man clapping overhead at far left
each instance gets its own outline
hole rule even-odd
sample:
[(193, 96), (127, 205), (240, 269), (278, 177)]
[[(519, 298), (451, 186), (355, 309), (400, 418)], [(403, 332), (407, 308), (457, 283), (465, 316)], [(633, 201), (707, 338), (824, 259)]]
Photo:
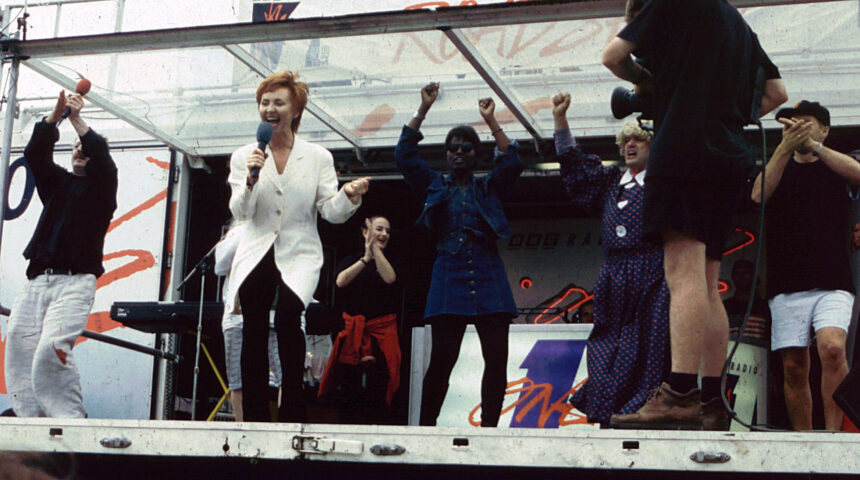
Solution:
[(60, 132), (56, 124), (42, 120), (24, 158), (36, 181), (44, 208), (24, 258), (30, 260), (27, 278), (46, 268), (104, 273), (104, 239), (116, 210), (117, 168), (107, 141), (93, 129), (81, 136), (83, 153), (90, 160), (86, 175), (77, 176), (54, 163), (54, 144)]

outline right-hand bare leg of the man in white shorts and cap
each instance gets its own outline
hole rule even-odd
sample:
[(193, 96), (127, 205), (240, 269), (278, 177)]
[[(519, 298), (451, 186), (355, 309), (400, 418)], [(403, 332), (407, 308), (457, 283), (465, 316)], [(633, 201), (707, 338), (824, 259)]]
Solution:
[(844, 414), (833, 401), (833, 392), (848, 375), (845, 358), (845, 331), (825, 327), (815, 333), (818, 355), (821, 357), (821, 399), (824, 403), (824, 424), (828, 430), (842, 430)]

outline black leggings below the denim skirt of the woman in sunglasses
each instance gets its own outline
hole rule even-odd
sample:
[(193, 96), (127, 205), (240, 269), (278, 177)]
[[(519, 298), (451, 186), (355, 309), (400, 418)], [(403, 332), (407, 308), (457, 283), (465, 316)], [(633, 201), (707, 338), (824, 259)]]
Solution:
[(474, 324), (481, 341), (484, 357), (484, 375), (481, 378), (481, 426), (495, 427), (499, 424), (502, 402), (508, 385), (508, 330), (510, 317), (506, 314), (482, 315), (478, 317), (442, 315), (433, 319), (431, 335), (433, 346), (430, 366), (424, 375), (421, 396), (421, 425), (434, 426), (445, 395), (451, 370), (460, 356), (460, 344), (466, 325)]

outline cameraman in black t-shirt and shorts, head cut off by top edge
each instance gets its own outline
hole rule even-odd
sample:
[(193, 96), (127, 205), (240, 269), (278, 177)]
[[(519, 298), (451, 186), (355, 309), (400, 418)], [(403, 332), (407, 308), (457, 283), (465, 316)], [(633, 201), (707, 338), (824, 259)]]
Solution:
[(611, 423), (726, 428), (719, 399), (728, 343), (720, 258), (744, 195), (743, 127), (785, 101), (779, 71), (726, 0), (645, 3), (606, 46), (603, 62), (652, 96), (643, 226), (646, 238), (663, 243), (671, 296), (669, 381), (638, 412)]

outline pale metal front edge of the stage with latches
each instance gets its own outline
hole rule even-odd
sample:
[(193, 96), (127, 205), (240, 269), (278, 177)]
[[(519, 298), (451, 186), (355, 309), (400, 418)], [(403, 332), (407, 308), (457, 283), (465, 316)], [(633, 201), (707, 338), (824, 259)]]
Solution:
[[(0, 451), (409, 466), (860, 473), (860, 435), (0, 418)], [(319, 465), (324, 465), (319, 463)]]

